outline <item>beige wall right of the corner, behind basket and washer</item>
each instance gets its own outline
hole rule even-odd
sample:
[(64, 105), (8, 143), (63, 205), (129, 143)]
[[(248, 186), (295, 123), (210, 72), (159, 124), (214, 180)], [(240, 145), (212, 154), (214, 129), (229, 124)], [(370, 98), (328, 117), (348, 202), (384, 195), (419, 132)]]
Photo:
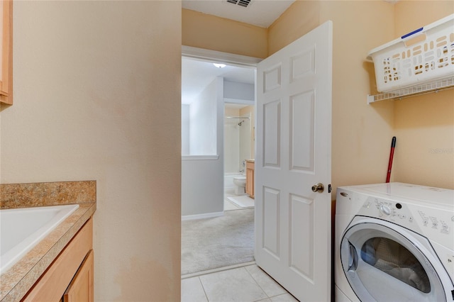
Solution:
[[(454, 1), (399, 1), (396, 38), (454, 13)], [(394, 101), (394, 179), (454, 189), (454, 89)]]

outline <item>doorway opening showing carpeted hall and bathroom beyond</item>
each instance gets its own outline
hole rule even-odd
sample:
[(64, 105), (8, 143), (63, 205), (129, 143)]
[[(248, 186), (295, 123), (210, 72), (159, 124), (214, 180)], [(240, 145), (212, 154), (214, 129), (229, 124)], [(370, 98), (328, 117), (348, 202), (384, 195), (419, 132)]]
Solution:
[[(183, 47), (183, 278), (254, 262), (254, 208), (228, 201), (225, 173), (243, 174), (243, 162), (254, 158), (255, 65), (259, 61)], [(194, 175), (199, 187), (194, 185)], [(185, 186), (188, 181), (193, 185)]]

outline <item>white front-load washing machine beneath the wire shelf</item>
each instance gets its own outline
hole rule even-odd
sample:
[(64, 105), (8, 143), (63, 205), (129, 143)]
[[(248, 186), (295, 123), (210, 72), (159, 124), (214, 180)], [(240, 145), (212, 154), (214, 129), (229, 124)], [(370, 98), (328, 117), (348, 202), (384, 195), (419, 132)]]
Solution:
[(454, 301), (454, 190), (339, 187), (336, 301)]

